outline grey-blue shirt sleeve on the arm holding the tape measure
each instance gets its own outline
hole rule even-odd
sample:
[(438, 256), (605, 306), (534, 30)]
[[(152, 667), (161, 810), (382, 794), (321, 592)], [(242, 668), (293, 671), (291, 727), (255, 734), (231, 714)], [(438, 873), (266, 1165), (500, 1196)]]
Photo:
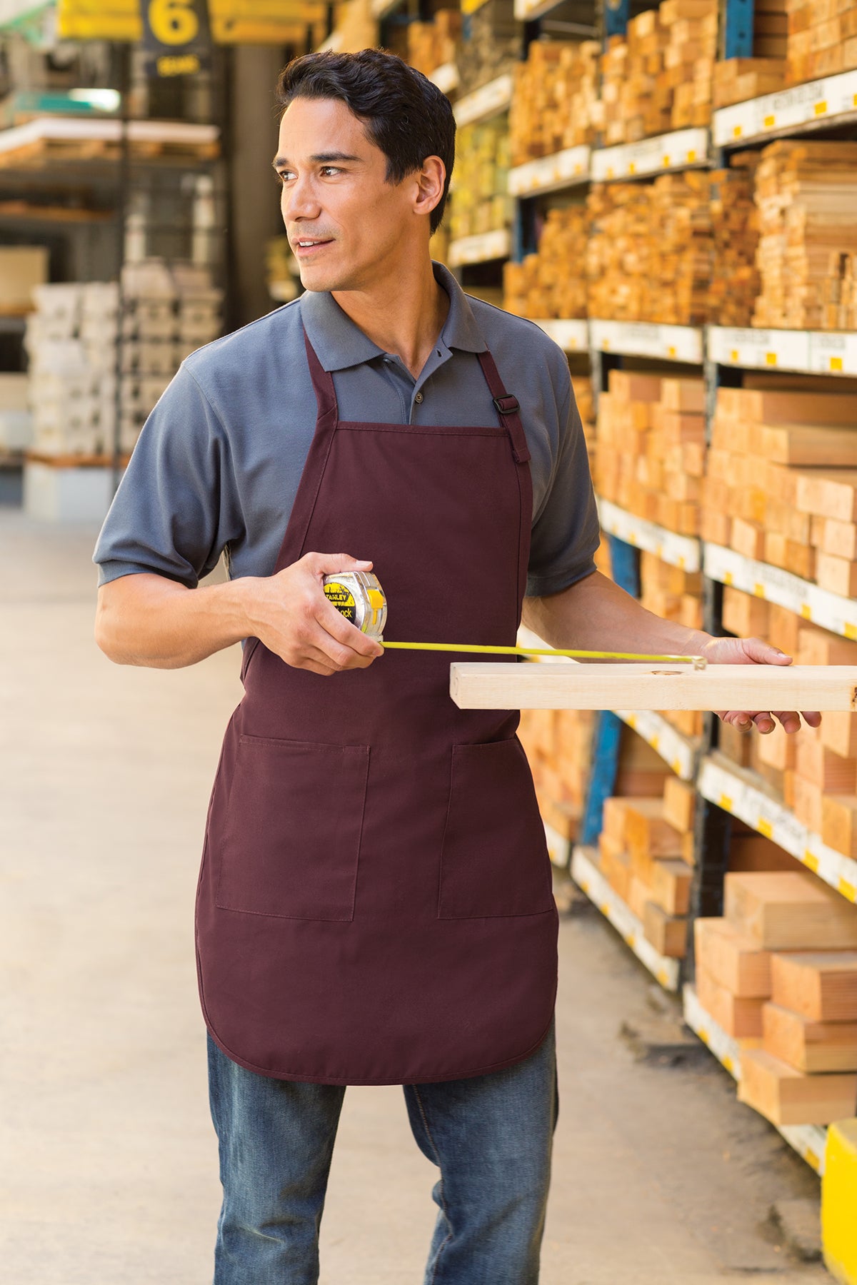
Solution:
[(99, 585), (154, 572), (195, 589), (242, 531), (227, 439), (182, 365), (143, 427), (95, 546)]

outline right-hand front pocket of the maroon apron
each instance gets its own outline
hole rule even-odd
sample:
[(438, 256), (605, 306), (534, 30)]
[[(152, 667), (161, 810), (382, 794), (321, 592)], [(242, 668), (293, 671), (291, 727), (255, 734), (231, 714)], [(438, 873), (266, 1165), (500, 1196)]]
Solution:
[(551, 867), (520, 741), (452, 747), (438, 919), (554, 908)]

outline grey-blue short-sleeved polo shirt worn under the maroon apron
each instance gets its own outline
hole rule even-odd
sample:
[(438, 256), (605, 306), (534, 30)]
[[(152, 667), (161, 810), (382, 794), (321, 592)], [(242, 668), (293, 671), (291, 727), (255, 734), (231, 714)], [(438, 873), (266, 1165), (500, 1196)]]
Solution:
[(272, 574), (316, 421), (302, 325), (348, 420), (496, 424), (475, 357), (490, 348), (520, 402), (532, 454), (527, 592), (559, 592), (590, 574), (599, 522), (565, 355), (532, 321), (466, 296), (442, 265), (434, 275), (450, 312), (419, 379), (329, 293), (307, 292), (186, 357), (143, 428), (102, 528), (99, 583), (155, 572), (194, 589), (224, 551), (231, 577)]

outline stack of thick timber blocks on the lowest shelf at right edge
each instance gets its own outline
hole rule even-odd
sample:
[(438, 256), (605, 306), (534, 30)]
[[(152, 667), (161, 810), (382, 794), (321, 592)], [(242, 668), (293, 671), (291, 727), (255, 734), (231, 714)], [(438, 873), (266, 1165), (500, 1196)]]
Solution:
[(806, 871), (726, 875), (723, 919), (694, 925), (702, 1006), (743, 1041), (739, 1099), (775, 1124), (857, 1101), (857, 908)]

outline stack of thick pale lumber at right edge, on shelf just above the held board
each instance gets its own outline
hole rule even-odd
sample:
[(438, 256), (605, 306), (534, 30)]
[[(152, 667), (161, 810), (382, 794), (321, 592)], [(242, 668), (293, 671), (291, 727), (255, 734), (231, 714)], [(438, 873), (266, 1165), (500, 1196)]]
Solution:
[(852, 596), (856, 523), (853, 394), (718, 389), (703, 484), (704, 540)]

